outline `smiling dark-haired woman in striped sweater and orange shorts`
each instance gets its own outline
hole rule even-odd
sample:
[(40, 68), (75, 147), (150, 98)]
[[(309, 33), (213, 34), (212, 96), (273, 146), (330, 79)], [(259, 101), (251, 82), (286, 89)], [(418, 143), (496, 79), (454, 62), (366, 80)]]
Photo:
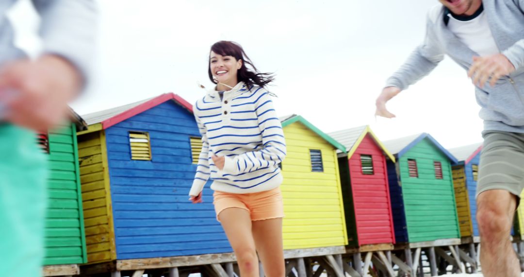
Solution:
[(240, 275), (259, 275), (258, 252), (266, 276), (284, 276), (278, 164), (286, 156), (286, 142), (266, 90), (273, 77), (258, 72), (232, 41), (211, 46), (208, 74), (216, 87), (193, 108), (203, 147), (190, 200), (202, 201), (202, 189), (211, 178), (216, 218), (235, 252)]

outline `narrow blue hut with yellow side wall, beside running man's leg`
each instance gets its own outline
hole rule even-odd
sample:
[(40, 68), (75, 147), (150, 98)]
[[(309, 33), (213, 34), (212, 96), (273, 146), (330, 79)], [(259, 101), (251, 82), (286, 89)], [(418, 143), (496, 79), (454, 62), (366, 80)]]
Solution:
[(478, 164), (480, 161), (482, 143), (451, 148), (450, 153), (457, 158), (452, 165), (455, 200), (459, 213), (461, 237), (478, 237), (476, 219)]

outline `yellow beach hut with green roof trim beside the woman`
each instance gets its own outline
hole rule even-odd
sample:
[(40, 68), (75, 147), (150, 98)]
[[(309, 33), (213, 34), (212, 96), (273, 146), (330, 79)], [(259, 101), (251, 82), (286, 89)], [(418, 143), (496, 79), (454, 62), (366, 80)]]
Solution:
[(287, 145), (280, 165), (284, 248), (344, 253), (347, 235), (336, 151), (345, 153), (345, 148), (300, 115), (280, 120)]

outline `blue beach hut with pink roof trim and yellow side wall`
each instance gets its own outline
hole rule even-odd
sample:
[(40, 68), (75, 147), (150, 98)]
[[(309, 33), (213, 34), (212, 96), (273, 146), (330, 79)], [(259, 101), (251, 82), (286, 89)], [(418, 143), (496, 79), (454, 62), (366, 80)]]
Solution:
[[(191, 104), (166, 93), (83, 118), (89, 128), (78, 134), (78, 147), (89, 263), (109, 262), (104, 270), (119, 272), (147, 261), (193, 264), (159, 257), (207, 254), (193, 262), (212, 263), (220, 257), (209, 254), (232, 252), (209, 186), (204, 203), (188, 200), (202, 147)], [(97, 272), (91, 269), (83, 274)]]

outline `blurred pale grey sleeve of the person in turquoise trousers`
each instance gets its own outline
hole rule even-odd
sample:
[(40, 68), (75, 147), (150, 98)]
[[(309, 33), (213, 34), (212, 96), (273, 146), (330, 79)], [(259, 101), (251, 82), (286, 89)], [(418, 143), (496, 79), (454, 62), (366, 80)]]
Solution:
[(94, 0), (31, 0), (41, 17), (43, 54), (67, 59), (90, 81), (97, 31)]

